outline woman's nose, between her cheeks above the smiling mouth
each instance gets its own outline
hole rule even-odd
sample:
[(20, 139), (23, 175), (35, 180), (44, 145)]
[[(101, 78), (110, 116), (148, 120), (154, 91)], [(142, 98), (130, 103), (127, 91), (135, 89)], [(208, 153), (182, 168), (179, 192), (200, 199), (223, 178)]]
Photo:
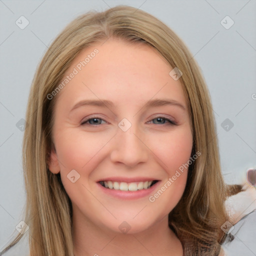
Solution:
[(128, 167), (146, 162), (149, 149), (143, 141), (144, 135), (132, 126), (127, 131), (118, 128), (115, 139), (112, 141), (111, 161), (123, 163)]

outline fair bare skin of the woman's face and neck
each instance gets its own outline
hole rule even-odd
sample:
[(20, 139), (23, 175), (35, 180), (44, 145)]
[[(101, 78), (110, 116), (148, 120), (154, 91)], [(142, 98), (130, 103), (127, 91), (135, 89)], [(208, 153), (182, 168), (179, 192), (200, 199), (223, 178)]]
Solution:
[[(99, 52), (57, 95), (49, 169), (60, 172), (73, 210), (74, 255), (182, 255), (179, 239), (168, 227), (168, 213), (184, 191), (187, 170), (157, 198), (148, 195), (120, 199), (99, 188), (105, 177), (154, 177), (154, 194), (192, 150), (192, 134), (185, 96), (172, 67), (154, 48), (143, 43), (108, 39), (83, 50), (66, 74), (95, 48)], [(184, 106), (145, 107), (150, 99), (172, 99)], [(82, 105), (84, 99), (107, 99), (115, 106)], [(92, 124), (86, 118), (96, 116)], [(174, 120), (169, 123), (165, 117)], [(126, 118), (131, 127), (118, 123)], [(80, 177), (72, 183), (67, 175)], [(126, 221), (130, 229), (118, 226)]]

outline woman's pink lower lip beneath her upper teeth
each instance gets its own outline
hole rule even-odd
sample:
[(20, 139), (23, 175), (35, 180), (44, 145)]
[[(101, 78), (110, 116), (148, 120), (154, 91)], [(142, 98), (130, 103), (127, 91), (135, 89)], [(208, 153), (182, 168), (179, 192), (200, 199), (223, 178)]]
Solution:
[(147, 189), (141, 189), (136, 191), (123, 191), (123, 190), (116, 190), (116, 189), (110, 189), (102, 186), (101, 184), (97, 183), (99, 188), (102, 189), (102, 191), (110, 196), (119, 198), (119, 199), (126, 199), (126, 200), (134, 200), (139, 199), (145, 196), (148, 196), (153, 192), (153, 190), (158, 186), (160, 182), (156, 182), (152, 186), (150, 186)]

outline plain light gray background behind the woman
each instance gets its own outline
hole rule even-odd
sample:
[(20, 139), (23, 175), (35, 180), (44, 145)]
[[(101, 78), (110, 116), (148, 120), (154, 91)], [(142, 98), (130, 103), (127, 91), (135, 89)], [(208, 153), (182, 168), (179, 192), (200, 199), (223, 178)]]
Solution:
[[(23, 131), (16, 123), (25, 116), (35, 68), (47, 46), (77, 15), (118, 4), (161, 19), (194, 55), (212, 98), (225, 181), (241, 183), (247, 168), (256, 167), (255, 0), (0, 0), (0, 250), (22, 220)], [(21, 15), (29, 21), (24, 29), (15, 24)], [(234, 21), (229, 29), (220, 23), (226, 15)], [(226, 118), (234, 124), (228, 131), (221, 127)], [(22, 246), (6, 255), (25, 255)], [(239, 249), (242, 255), (256, 255), (255, 244), (246, 240)]]

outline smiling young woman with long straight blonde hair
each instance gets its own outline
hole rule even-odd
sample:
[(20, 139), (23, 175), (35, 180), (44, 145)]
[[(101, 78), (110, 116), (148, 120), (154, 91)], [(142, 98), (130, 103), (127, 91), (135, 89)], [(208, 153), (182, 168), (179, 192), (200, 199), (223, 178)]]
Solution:
[(76, 18), (37, 68), (26, 121), (30, 256), (223, 253), (241, 186), (223, 182), (207, 87), (161, 21), (128, 6)]

